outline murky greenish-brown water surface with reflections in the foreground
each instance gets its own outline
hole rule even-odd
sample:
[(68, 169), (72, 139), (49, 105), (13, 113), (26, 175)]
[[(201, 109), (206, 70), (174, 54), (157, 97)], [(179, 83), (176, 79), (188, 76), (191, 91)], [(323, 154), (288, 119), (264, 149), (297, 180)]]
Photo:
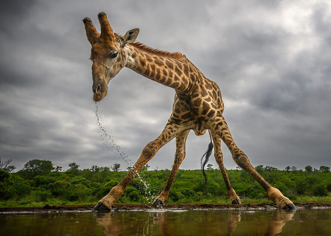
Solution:
[(331, 210), (0, 215), (0, 235), (331, 235)]

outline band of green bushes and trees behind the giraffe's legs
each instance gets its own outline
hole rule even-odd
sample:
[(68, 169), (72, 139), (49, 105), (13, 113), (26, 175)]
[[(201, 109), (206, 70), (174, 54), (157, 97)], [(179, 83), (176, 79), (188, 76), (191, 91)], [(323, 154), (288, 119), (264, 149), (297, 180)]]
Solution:
[[(7, 164), (8, 167), (8, 164)], [(143, 167), (117, 203), (151, 203), (164, 188), (170, 170)], [(256, 166), (272, 186), (294, 202), (331, 202), (330, 167), (320, 169), (295, 166), (278, 170)], [(49, 160), (33, 159), (22, 170), (0, 169), (0, 207), (94, 204), (106, 195), (127, 173), (120, 165), (79, 169), (75, 162), (62, 171)], [(129, 168), (128, 168), (129, 169)], [(219, 169), (207, 166), (207, 185), (200, 170), (178, 170), (167, 203), (230, 203)], [(227, 170), (231, 185), (242, 203), (271, 202), (264, 189), (244, 170)]]

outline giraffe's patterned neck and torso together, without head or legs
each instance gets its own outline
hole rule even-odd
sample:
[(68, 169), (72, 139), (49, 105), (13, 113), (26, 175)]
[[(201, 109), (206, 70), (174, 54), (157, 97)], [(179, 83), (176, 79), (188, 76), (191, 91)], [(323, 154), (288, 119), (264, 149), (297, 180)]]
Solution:
[[(126, 67), (160, 84), (175, 89), (175, 101), (169, 122), (192, 129), (196, 135), (206, 133), (206, 119), (213, 116), (211, 107), (223, 112), (221, 92), (217, 84), (207, 79), (193, 63), (177, 53), (155, 55), (142, 51), (140, 44), (127, 45), (131, 60)], [(163, 56), (163, 54), (167, 57)], [(119, 55), (120, 56), (120, 55)]]

